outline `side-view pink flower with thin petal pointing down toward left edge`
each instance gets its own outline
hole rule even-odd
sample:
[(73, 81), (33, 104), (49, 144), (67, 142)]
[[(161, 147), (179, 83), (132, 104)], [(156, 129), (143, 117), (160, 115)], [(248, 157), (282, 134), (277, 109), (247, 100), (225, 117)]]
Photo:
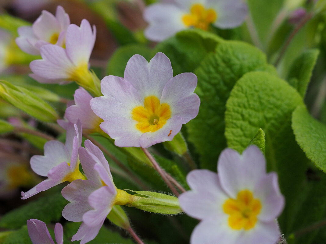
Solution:
[(68, 124), (66, 144), (60, 141), (48, 141), (44, 145), (44, 156), (34, 155), (31, 158), (31, 167), (40, 176), (47, 176), (28, 192), (22, 192), (22, 199), (46, 191), (65, 181), (85, 179), (79, 171), (78, 148), (82, 144), (82, 125)]

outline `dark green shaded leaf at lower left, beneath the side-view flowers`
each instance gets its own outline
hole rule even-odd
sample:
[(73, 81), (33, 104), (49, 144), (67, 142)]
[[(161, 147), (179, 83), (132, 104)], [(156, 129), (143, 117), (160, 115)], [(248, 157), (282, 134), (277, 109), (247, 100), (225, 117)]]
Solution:
[(25, 225), (29, 219), (38, 219), (45, 223), (57, 222), (62, 217), (61, 212), (67, 204), (68, 201), (61, 193), (40, 197), (6, 213), (0, 220), (0, 227), (17, 229)]

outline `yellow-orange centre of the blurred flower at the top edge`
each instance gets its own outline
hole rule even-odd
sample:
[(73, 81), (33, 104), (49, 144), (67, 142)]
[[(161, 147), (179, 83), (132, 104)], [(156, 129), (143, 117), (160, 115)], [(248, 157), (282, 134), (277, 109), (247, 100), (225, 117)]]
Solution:
[(182, 21), (187, 27), (196, 27), (208, 30), (208, 26), (217, 19), (214, 9), (206, 9), (202, 4), (194, 4), (190, 8), (190, 13), (182, 17)]

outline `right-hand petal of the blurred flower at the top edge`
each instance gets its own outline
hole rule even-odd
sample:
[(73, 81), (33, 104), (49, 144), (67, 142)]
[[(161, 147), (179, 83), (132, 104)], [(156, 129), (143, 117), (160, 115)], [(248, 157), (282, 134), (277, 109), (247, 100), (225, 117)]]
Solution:
[(217, 19), (214, 25), (221, 29), (240, 26), (248, 13), (248, 7), (242, 0), (208, 0), (207, 7), (215, 9)]

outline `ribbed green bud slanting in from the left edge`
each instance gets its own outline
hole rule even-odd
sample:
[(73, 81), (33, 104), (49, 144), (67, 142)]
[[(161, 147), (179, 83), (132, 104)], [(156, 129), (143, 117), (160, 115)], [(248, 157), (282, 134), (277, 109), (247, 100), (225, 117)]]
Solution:
[(59, 119), (57, 112), (43, 99), (8, 81), (0, 80), (0, 97), (40, 121), (55, 122)]

